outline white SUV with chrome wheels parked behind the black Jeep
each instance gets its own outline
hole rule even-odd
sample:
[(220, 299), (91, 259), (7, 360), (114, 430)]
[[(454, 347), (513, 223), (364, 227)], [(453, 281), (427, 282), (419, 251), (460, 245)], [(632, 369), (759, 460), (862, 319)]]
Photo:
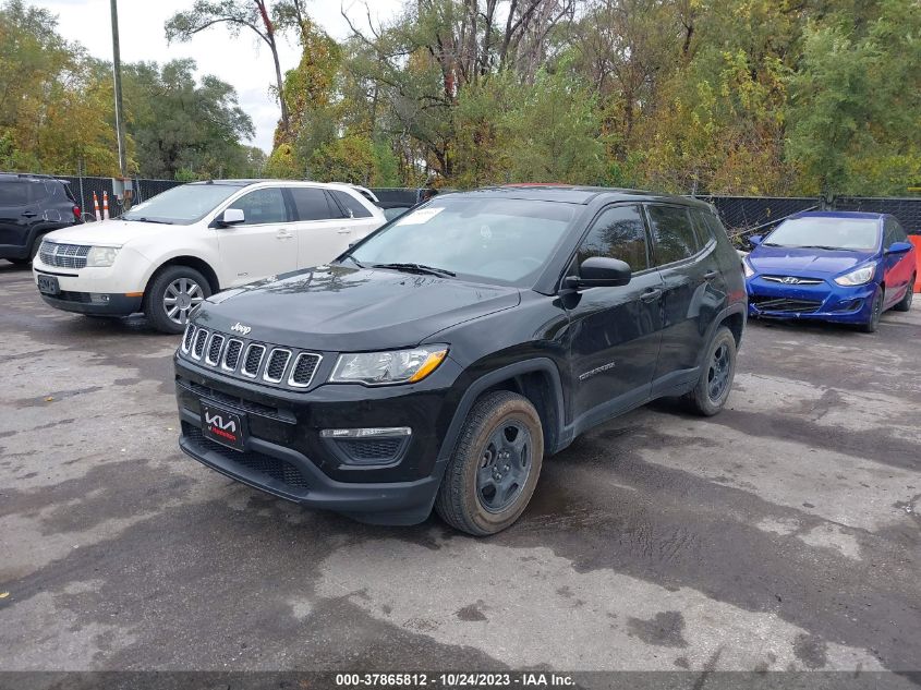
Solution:
[(329, 262), (384, 222), (348, 184), (194, 182), (116, 220), (49, 233), (33, 274), (57, 308), (143, 311), (157, 329), (181, 332), (210, 294)]

